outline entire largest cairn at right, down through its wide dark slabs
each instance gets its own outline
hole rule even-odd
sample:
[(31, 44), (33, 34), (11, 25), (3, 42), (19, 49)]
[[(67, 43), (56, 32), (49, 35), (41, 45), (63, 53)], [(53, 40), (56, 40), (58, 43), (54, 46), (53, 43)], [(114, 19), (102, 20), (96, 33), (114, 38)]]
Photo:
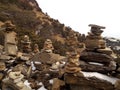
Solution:
[(114, 53), (106, 47), (101, 34), (105, 27), (89, 25), (91, 32), (88, 33), (85, 41), (86, 50), (81, 54), (81, 60), (85, 61), (82, 69), (85, 71), (96, 71), (108, 73), (116, 69)]

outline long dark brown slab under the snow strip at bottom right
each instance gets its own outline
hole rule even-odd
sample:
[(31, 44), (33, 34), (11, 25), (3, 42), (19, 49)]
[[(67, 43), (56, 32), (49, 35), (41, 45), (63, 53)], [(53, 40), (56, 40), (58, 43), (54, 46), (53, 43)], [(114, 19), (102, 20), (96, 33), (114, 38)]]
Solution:
[(112, 83), (95, 77), (86, 78), (65, 74), (64, 80), (72, 90), (114, 90)]

